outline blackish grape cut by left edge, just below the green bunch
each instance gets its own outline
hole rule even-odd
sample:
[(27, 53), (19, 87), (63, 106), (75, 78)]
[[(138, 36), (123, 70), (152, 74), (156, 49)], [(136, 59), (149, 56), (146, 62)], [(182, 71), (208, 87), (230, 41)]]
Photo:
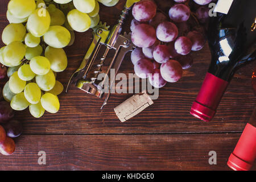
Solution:
[(14, 116), (14, 111), (9, 102), (0, 101), (0, 123), (9, 121)]

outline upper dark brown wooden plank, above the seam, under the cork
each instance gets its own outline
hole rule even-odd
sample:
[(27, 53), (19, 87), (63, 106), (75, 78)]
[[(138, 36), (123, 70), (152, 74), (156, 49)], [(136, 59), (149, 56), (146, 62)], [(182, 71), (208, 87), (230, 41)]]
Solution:
[[(0, 6), (0, 32), (7, 24), (6, 9), (8, 0), (1, 1)], [(125, 1), (120, 1), (117, 9), (101, 6), (101, 20), (113, 25)], [(111, 10), (111, 13), (109, 13)], [(129, 18), (131, 20), (131, 16)], [(128, 20), (128, 22), (129, 22)], [(129, 23), (125, 25), (129, 31)], [(76, 33), (73, 46), (65, 48), (68, 55), (68, 68), (57, 75), (57, 79), (67, 85), (69, 76), (79, 67), (80, 61), (89, 47), (91, 41), (90, 31)], [(1, 46), (3, 44), (1, 43)], [(103, 102), (74, 86), (68, 94), (61, 94), (61, 108), (57, 114), (46, 113), (40, 119), (33, 118), (28, 110), (17, 111), (16, 118), (24, 123), (24, 133), (90, 133), (90, 134), (125, 134), (125, 133), (188, 133), (188, 132), (220, 132), (242, 131), (250, 114), (256, 105), (251, 85), (250, 76), (256, 61), (247, 64), (234, 76), (224, 98), (218, 107), (216, 117), (212, 122), (203, 123), (189, 114), (193, 100), (200, 89), (205, 73), (207, 72), (210, 52), (205, 46), (199, 52), (194, 52), (195, 64), (179, 82), (168, 83), (160, 89), (160, 96), (155, 104), (148, 107), (141, 114), (126, 123), (120, 123), (115, 116), (113, 108), (125, 101), (132, 94), (113, 94), (109, 104), (100, 110)], [(121, 66), (120, 72), (133, 73), (133, 65), (129, 55)], [(3, 84), (3, 82), (1, 82)]]

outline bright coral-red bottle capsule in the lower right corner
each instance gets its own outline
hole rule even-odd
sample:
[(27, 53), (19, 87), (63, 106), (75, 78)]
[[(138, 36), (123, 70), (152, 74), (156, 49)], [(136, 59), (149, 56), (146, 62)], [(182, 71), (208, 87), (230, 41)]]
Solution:
[(256, 156), (256, 127), (247, 123), (237, 146), (229, 156), (228, 166), (235, 171), (249, 171)]

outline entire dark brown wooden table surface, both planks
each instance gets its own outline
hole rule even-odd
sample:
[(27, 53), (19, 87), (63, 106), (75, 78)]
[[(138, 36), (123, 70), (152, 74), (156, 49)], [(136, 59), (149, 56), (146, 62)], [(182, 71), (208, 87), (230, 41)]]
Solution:
[[(8, 2), (0, 1), (1, 33), (8, 24)], [(124, 2), (111, 8), (100, 6), (101, 21), (113, 26)], [(129, 31), (128, 23), (124, 30)], [(68, 68), (57, 74), (64, 86), (79, 67), (91, 38), (91, 31), (76, 33), (75, 43), (65, 48)], [(230, 170), (226, 162), (256, 106), (250, 80), (256, 61), (237, 71), (214, 119), (201, 122), (189, 110), (208, 69), (208, 46), (193, 52), (193, 57), (195, 64), (184, 71), (179, 82), (160, 89), (152, 106), (125, 123), (119, 121), (113, 109), (132, 94), (113, 94), (105, 109), (100, 110), (102, 99), (74, 86), (68, 94), (60, 95), (57, 114), (45, 113), (36, 119), (28, 109), (16, 111), (15, 118), (23, 122), (24, 132), (15, 139), (13, 155), (0, 155), (0, 169)], [(134, 73), (129, 55), (120, 72)], [(4, 83), (1, 81), (1, 86)], [(46, 165), (38, 164), (39, 151), (46, 152)], [(208, 163), (209, 151), (217, 152), (216, 165)]]

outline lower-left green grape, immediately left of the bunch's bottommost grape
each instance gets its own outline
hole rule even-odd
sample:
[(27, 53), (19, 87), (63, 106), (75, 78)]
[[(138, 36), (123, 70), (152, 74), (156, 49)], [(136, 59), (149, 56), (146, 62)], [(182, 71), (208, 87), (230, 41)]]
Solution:
[(24, 110), (30, 105), (24, 96), (24, 92), (16, 94), (11, 100), (11, 108), (14, 110)]

